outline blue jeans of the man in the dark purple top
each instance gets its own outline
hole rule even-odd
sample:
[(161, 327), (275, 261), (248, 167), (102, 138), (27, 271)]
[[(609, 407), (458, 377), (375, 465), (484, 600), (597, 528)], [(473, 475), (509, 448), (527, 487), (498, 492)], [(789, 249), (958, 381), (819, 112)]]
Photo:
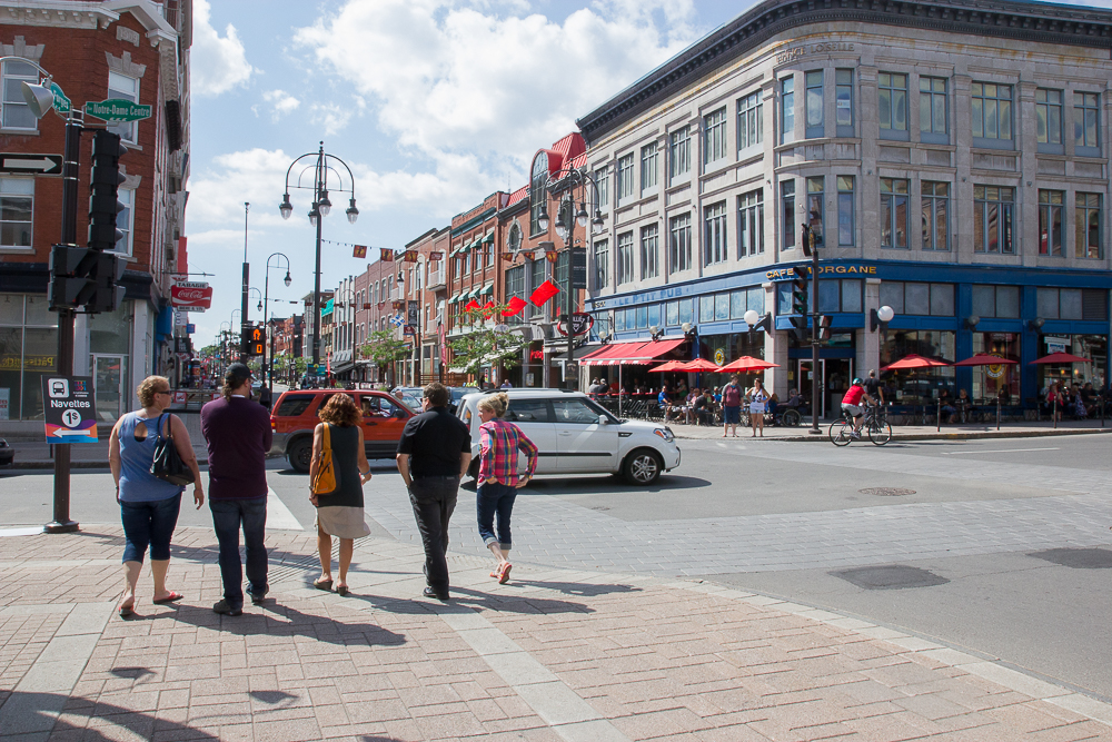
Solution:
[(220, 543), (220, 576), (224, 577), (224, 597), (234, 607), (244, 605), (244, 564), (239, 560), (239, 528), (244, 527), (247, 547), (247, 590), (261, 593), (267, 590), (267, 548), (264, 545), (267, 528), (267, 498), (210, 499), (212, 525)]

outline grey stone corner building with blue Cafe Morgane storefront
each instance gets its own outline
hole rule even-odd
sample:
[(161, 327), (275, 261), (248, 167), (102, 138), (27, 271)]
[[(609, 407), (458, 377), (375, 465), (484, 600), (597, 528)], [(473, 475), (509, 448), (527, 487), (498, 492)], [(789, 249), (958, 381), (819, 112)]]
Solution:
[[(1110, 50), (1112, 11), (1094, 8), (757, 6), (579, 120), (606, 184), (596, 327), (647, 340), (689, 323), (702, 357), (763, 356), (781, 397), (810, 393), (785, 283), (806, 222), (833, 317), (827, 410), (853, 376), (909, 353), (1019, 364), (905, 384), (905, 404), (940, 386), (1030, 406), (1051, 378), (1103, 385)], [(874, 329), (880, 306), (895, 318)], [(772, 332), (751, 336), (747, 309), (771, 313)], [(1029, 365), (1054, 350), (1091, 363)]]

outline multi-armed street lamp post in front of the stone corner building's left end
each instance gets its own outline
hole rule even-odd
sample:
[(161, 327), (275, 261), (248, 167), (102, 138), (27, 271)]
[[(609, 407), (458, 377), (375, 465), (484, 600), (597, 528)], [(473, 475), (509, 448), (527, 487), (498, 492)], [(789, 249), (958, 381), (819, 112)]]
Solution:
[[(575, 311), (575, 289), (576, 288), (587, 288), (586, 286), (586, 266), (587, 266), (587, 235), (584, 234), (584, 239), (579, 243), (575, 239), (575, 226), (578, 224), (580, 227), (586, 227), (589, 220), (592, 234), (599, 234), (603, 230), (603, 214), (598, 209), (598, 184), (595, 179), (586, 174), (585, 170), (579, 170), (577, 168), (564, 168), (556, 172), (549, 174), (546, 181), (544, 192), (547, 194), (548, 198), (559, 198), (559, 209), (556, 214), (556, 234), (564, 241), (567, 247), (567, 297), (565, 303), (566, 317), (565, 327), (567, 329), (567, 360), (564, 366), (564, 383), (569, 389), (575, 388), (575, 377), (572, 372), (576, 368), (575, 362), (573, 359), (573, 350), (575, 347), (575, 335), (572, 333), (572, 315)], [(587, 214), (587, 202), (594, 206), (594, 217)], [(578, 202), (578, 209), (576, 209), (576, 204)], [(548, 208), (547, 204), (542, 204), (540, 214), (537, 216), (537, 226), (542, 230), (548, 230)], [(584, 268), (584, 285), (576, 287), (573, 276), (575, 275), (575, 246), (579, 245), (579, 249), (583, 250), (583, 268)], [(554, 264), (555, 265), (555, 264)], [(558, 325), (557, 325), (558, 327)]]

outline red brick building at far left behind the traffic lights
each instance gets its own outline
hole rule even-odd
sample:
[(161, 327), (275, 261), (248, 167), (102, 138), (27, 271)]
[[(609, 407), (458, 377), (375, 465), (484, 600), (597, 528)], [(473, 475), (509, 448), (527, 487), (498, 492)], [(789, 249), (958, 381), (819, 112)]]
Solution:
[[(72, 6), (72, 9), (68, 8)], [(0, 0), (0, 149), (60, 155), (61, 119), (36, 120), (20, 83), (48, 70), (75, 108), (122, 98), (150, 105), (149, 119), (119, 123), (126, 209), (117, 251), (127, 259), (127, 298), (111, 314), (78, 315), (75, 373), (92, 375), (97, 415), (115, 421), (152, 373), (172, 372), (170, 276), (178, 269), (189, 151), (190, 0)], [(88, 127), (103, 125), (88, 117)], [(78, 239), (85, 243), (91, 136), (82, 137)], [(57, 368), (57, 315), (47, 310), (50, 247), (61, 235), (62, 181), (0, 176), (0, 424), (18, 433), (42, 418), (40, 377)], [(183, 246), (183, 240), (182, 240)], [(21, 426), (17, 421), (27, 421)]]

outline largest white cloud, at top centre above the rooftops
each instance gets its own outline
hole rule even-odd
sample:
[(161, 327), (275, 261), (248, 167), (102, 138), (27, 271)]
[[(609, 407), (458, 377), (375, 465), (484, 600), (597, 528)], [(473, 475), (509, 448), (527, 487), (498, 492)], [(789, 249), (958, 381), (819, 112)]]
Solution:
[(438, 164), (473, 154), (503, 181), (694, 39), (691, 0), (605, 0), (563, 23), (490, 6), (348, 0), (295, 40), (366, 97), (401, 146)]

